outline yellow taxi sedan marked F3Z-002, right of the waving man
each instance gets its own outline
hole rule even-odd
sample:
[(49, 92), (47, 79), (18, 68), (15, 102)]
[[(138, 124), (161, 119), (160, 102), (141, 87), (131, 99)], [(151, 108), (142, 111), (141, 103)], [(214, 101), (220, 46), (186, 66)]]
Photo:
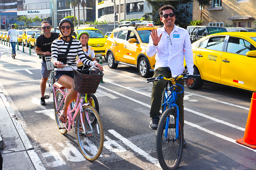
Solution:
[[(225, 32), (192, 43), (194, 74), (200, 74), (190, 89), (204, 82), (256, 91), (256, 33)], [(187, 71), (187, 70), (185, 70)]]

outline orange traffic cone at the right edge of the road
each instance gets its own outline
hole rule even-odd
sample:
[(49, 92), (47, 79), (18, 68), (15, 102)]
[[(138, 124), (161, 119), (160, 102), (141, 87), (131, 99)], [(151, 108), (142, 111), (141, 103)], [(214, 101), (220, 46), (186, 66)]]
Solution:
[(256, 93), (252, 94), (251, 106), (247, 118), (244, 138), (237, 139), (236, 142), (252, 149), (256, 149)]

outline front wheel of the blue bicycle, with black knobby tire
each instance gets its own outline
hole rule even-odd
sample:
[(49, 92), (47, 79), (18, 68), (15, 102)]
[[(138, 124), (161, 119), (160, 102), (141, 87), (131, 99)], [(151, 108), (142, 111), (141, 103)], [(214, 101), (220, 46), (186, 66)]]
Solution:
[[(179, 122), (179, 137), (175, 141), (176, 128), (175, 127), (175, 109), (167, 109), (160, 118), (157, 128), (157, 155), (160, 166), (163, 170), (176, 170), (179, 167), (182, 153), (183, 153), (183, 128), (180, 127)], [(168, 126), (168, 141), (166, 141), (164, 130), (167, 117), (170, 118)]]

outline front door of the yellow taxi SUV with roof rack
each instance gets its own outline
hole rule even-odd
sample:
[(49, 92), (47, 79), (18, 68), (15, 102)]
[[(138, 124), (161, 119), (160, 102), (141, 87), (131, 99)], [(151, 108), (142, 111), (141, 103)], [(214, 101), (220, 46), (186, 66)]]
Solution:
[(138, 56), (138, 51), (140, 49), (140, 43), (137, 42), (129, 42), (129, 39), (136, 39), (138, 41), (138, 38), (135, 34), (135, 32), (129, 30), (128, 31), (128, 36), (127, 36), (127, 41), (124, 42), (124, 56), (123, 60), (124, 62), (130, 63), (130, 64), (137, 64), (137, 56)]

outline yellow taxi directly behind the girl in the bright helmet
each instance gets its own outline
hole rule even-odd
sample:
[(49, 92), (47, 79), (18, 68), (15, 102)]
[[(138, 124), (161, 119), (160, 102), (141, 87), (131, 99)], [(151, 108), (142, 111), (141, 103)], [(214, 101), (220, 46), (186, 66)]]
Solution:
[(73, 36), (77, 37), (77, 35), (86, 31), (89, 34), (88, 45), (90, 45), (95, 53), (95, 56), (104, 56), (105, 57), (105, 43), (106, 37), (95, 27), (76, 27), (74, 30)]

